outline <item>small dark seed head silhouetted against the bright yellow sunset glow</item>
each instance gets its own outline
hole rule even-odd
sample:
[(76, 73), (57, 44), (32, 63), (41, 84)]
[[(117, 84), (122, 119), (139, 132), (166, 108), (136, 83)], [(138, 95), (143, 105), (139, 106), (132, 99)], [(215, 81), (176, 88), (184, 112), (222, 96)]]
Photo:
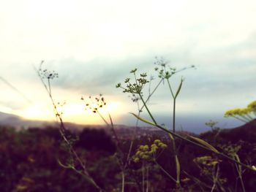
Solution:
[[(81, 97), (81, 100), (85, 101), (85, 99), (83, 99), (83, 96)], [(99, 94), (99, 96), (95, 97), (94, 99), (89, 96), (89, 101), (86, 101), (86, 110), (90, 110), (91, 112), (96, 113), (98, 112), (99, 108), (102, 108), (105, 105), (106, 102), (102, 94)]]

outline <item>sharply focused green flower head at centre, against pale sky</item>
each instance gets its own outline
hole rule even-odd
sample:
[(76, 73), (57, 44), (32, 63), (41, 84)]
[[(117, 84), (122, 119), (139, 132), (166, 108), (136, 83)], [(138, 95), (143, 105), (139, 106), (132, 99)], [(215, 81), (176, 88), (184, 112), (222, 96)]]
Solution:
[(147, 74), (146, 73), (142, 73), (140, 74), (140, 78), (136, 77), (136, 71), (137, 69), (132, 70), (130, 73), (134, 74), (135, 76), (135, 82), (130, 82), (130, 78), (127, 78), (126, 80), (124, 80), (124, 83), (126, 83), (126, 86), (123, 87), (121, 85), (121, 82), (119, 82), (116, 85), (116, 88), (122, 88), (124, 89), (124, 93), (138, 93), (141, 94), (142, 93), (142, 89), (143, 87), (146, 85), (147, 82), (149, 82), (148, 80), (146, 80)]

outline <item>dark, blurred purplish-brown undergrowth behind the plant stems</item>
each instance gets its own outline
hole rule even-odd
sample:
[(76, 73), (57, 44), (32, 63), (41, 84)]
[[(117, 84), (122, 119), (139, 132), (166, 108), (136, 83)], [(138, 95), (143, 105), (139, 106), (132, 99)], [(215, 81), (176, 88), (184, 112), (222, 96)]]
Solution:
[[(200, 138), (205, 139), (218, 150), (238, 154), (241, 161), (256, 165), (256, 126), (255, 121), (244, 127), (232, 130), (214, 128)], [(121, 191), (121, 170), (116, 161), (116, 145), (104, 129), (84, 128), (83, 131), (69, 132), (74, 139), (75, 150), (86, 159), (86, 166), (94, 180), (105, 191)], [(164, 133), (163, 133), (164, 134)], [(121, 138), (121, 149), (129, 150), (129, 137)], [(148, 145), (160, 139), (167, 145), (152, 161), (129, 161), (125, 191), (141, 191), (142, 169), (147, 168), (146, 182), (149, 191), (175, 191), (176, 186), (170, 177), (175, 175), (172, 142), (167, 137), (145, 134), (135, 139), (135, 148)], [(218, 180), (222, 187), (214, 191), (241, 191), (235, 164), (217, 158), (211, 152), (187, 145), (177, 139), (178, 154), (183, 172), (183, 191), (211, 191), (212, 173), (219, 164)], [(215, 159), (215, 160), (214, 160)], [(16, 131), (15, 128), (0, 127), (0, 191), (97, 191), (90, 183), (71, 169), (64, 169), (59, 162), (68, 162), (69, 154), (61, 142), (59, 128), (28, 128)], [(165, 172), (162, 171), (162, 169)], [(256, 190), (256, 174), (243, 170), (244, 188)]]

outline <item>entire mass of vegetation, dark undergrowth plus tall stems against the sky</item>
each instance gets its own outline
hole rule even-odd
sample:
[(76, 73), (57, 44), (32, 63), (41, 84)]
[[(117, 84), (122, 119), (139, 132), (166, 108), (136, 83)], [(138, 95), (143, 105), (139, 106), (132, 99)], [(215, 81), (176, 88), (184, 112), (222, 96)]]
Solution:
[[(211, 131), (199, 136), (176, 131), (176, 100), (184, 83), (181, 77), (174, 91), (170, 79), (176, 70), (168, 62), (157, 58), (155, 71), (159, 82), (152, 89), (151, 76), (138, 75), (138, 69), (130, 72), (132, 78), (118, 83), (116, 88), (132, 94), (138, 105), (139, 120), (161, 130), (161, 136), (146, 131), (138, 137), (136, 124), (130, 137), (123, 137), (115, 128), (102, 94), (89, 101), (86, 109), (99, 115), (106, 124), (104, 129), (88, 129), (72, 132), (66, 128), (51, 91), (51, 80), (56, 72), (42, 69), (37, 73), (48, 92), (59, 128), (29, 128), (15, 131), (0, 128), (0, 188), (2, 191), (252, 191), (255, 187), (256, 141), (246, 141), (246, 134), (235, 128), (225, 133), (217, 122), (206, 123)], [(195, 68), (190, 66), (189, 68)], [(132, 80), (133, 79), (133, 80)], [(161, 82), (167, 82), (172, 105), (172, 128), (160, 125), (148, 105)], [(148, 86), (148, 96), (145, 88)], [(142, 105), (140, 105), (142, 104)], [(151, 120), (140, 117), (145, 107)], [(256, 103), (244, 109), (230, 110), (225, 117), (249, 122), (255, 127)], [(126, 130), (127, 131), (127, 130)], [(231, 131), (230, 131), (231, 132)], [(59, 134), (60, 133), (60, 134)], [(227, 137), (236, 136), (227, 139)], [(253, 134), (250, 134), (251, 137)], [(243, 137), (242, 137), (243, 136)], [(240, 139), (238, 139), (240, 138)], [(249, 138), (249, 137), (248, 137)], [(229, 174), (227, 170), (233, 170)]]

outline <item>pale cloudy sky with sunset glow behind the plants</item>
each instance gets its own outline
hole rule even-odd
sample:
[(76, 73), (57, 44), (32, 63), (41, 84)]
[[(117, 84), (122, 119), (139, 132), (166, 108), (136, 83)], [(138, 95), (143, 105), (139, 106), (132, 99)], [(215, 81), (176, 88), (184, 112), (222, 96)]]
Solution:
[[(256, 1), (0, 3), (1, 112), (55, 119), (33, 67), (41, 61), (43, 69), (59, 73), (51, 82), (53, 98), (66, 102), (63, 117), (73, 123), (103, 123), (80, 100), (102, 93), (116, 123), (134, 124), (129, 112), (137, 112), (137, 105), (116, 84), (138, 68), (153, 75), (155, 85), (156, 56), (177, 69), (196, 66), (171, 79), (175, 89), (185, 78), (177, 99), (178, 126), (200, 126), (210, 119), (232, 126), (223, 118), (225, 111), (255, 100)], [(166, 83), (148, 106), (160, 123), (170, 123), (173, 106)]]

